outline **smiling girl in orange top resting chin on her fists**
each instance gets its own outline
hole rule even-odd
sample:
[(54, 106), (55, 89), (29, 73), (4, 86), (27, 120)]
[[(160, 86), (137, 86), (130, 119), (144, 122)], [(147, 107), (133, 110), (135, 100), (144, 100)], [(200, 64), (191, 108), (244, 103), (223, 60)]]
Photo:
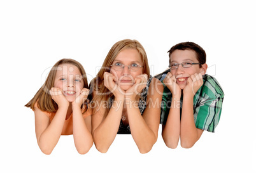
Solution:
[(34, 111), (38, 146), (52, 153), (60, 135), (73, 134), (76, 150), (87, 153), (92, 144), (91, 111), (85, 100), (89, 94), (83, 66), (72, 59), (53, 65), (45, 84), (27, 103)]

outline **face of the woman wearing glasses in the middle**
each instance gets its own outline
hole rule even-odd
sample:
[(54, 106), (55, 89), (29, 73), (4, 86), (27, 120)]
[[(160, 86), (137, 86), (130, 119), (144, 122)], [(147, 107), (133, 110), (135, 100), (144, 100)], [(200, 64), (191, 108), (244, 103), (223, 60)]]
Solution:
[(120, 86), (124, 91), (129, 89), (134, 82), (134, 79), (143, 74), (143, 68), (138, 68), (136, 72), (131, 72), (127, 66), (129, 65), (141, 65), (143, 66), (143, 61), (141, 60), (141, 56), (136, 49), (124, 49), (118, 53), (117, 57), (113, 61), (113, 64), (122, 63), (125, 67), (122, 70), (115, 70), (111, 68), (111, 74), (115, 75), (117, 81), (115, 81), (118, 86)]

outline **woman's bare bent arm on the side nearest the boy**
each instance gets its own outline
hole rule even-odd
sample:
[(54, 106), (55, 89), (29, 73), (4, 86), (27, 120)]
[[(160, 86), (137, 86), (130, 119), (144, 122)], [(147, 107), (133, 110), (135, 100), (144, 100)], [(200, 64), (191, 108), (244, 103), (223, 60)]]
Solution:
[[(138, 83), (140, 82), (141, 80), (138, 81)], [(157, 141), (162, 91), (162, 83), (158, 79), (153, 78), (148, 89), (147, 105), (143, 116), (141, 116), (138, 106), (134, 105), (136, 101), (134, 97), (130, 97), (126, 101), (132, 138), (141, 153), (150, 151), (153, 144)]]

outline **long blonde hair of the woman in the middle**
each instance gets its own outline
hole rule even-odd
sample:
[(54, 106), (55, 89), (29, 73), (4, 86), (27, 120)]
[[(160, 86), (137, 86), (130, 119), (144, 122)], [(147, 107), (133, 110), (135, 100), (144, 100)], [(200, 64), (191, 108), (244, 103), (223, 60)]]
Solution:
[[(143, 61), (143, 74), (150, 76), (148, 58), (146, 56), (146, 51), (143, 46), (138, 41), (131, 39), (124, 39), (122, 41), (116, 42), (108, 52), (101, 67), (101, 70), (99, 70), (96, 77), (90, 82), (90, 87), (92, 87), (94, 91), (96, 91), (96, 96), (94, 96), (94, 98), (92, 99), (92, 104), (94, 103), (94, 101), (106, 101), (108, 109), (105, 112), (105, 115), (110, 110), (110, 103), (108, 99), (114, 98), (114, 96), (110, 92), (110, 90), (104, 86), (104, 72), (110, 72), (110, 65), (112, 65), (113, 61), (115, 61), (118, 53), (120, 53), (120, 51), (123, 51), (124, 49), (136, 49), (139, 52), (141, 61)], [(95, 110), (96, 109), (94, 108), (93, 112), (95, 112)]]

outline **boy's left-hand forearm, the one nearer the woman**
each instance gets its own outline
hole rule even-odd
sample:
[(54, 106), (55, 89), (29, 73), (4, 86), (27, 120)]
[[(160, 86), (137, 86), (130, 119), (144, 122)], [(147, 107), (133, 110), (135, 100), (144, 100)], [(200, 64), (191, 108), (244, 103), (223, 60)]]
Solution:
[(172, 98), (169, 115), (162, 130), (162, 138), (169, 148), (176, 148), (180, 139), (180, 97)]

